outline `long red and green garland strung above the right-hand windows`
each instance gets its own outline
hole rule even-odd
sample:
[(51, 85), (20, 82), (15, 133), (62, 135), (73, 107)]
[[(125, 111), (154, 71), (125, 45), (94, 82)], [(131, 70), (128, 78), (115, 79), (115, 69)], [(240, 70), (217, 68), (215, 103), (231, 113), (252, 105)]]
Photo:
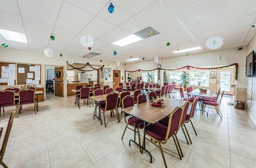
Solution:
[[(150, 71), (158, 70), (158, 80), (160, 80), (160, 70), (179, 70), (179, 69), (184, 69), (184, 68), (186, 68), (188, 70), (190, 70), (190, 68), (202, 69), (202, 70), (214, 70), (214, 69), (228, 68), (230, 66), (235, 66), (234, 77), (235, 77), (235, 80), (238, 80), (238, 63), (229, 64), (229, 65), (226, 65), (226, 66), (212, 67), (212, 68), (200, 68), (200, 67), (195, 67), (195, 66), (187, 65), (187, 66), (183, 66), (181, 68), (174, 68), (174, 69), (163, 69), (163, 68), (155, 68), (155, 69), (152, 69), (152, 70), (141, 70), (141, 69), (138, 69), (138, 70), (134, 70), (134, 71), (126, 70), (125, 72), (137, 72), (137, 71), (138, 72), (140, 72), (140, 71), (150, 72)], [(126, 73), (125, 73), (125, 78), (126, 78)]]

